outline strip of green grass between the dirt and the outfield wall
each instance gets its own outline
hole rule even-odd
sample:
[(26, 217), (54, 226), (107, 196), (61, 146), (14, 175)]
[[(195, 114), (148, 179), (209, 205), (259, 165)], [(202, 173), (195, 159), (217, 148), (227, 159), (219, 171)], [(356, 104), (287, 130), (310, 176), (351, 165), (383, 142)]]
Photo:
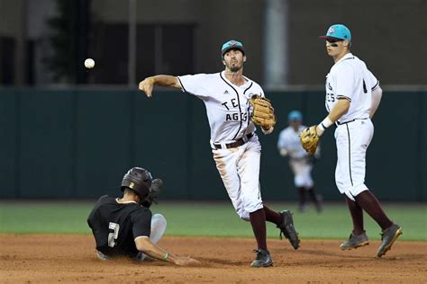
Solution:
[[(94, 203), (4, 201), (0, 203), (0, 233), (90, 234), (86, 217)], [(275, 203), (271, 208), (294, 211), (295, 227), (305, 239), (342, 239), (350, 234), (350, 214), (344, 203), (326, 204), (322, 214), (313, 208), (299, 213), (293, 203)], [(386, 204), (384, 209), (404, 227), (401, 240), (427, 241), (426, 204)], [(229, 202), (163, 202), (152, 211), (167, 218), (167, 235), (252, 236), (250, 224), (237, 217)], [(379, 227), (366, 214), (365, 228), (370, 239), (380, 238)], [(268, 236), (278, 236), (272, 224), (268, 224)]]

